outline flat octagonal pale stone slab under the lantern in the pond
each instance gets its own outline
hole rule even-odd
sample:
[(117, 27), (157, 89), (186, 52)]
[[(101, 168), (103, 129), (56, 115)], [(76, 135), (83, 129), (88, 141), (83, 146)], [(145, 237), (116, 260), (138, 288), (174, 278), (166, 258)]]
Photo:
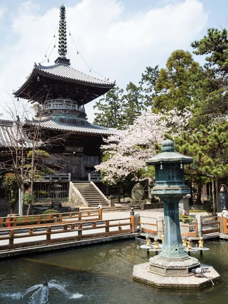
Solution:
[[(153, 285), (160, 288), (201, 288), (207, 285), (212, 285), (211, 280), (216, 282), (220, 279), (220, 275), (210, 265), (202, 265), (208, 267), (210, 273), (205, 276), (196, 277), (193, 273), (188, 276), (163, 276), (148, 272), (149, 263), (138, 264), (134, 266), (133, 279)], [(210, 280), (211, 279), (211, 280)]]

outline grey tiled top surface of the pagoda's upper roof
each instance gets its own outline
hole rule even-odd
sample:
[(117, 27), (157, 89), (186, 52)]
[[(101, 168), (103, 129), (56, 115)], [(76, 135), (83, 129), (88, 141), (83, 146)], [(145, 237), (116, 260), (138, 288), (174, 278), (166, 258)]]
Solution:
[(63, 77), (79, 82), (86, 82), (93, 85), (113, 86), (115, 84), (107, 80), (102, 80), (91, 75), (87, 75), (67, 64), (58, 63), (50, 66), (36, 65), (35, 68), (57, 77)]

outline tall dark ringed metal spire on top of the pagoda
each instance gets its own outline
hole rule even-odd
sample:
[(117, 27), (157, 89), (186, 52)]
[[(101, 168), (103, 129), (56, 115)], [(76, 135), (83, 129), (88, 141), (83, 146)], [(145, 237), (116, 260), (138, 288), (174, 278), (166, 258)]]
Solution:
[(60, 56), (65, 56), (66, 49), (66, 9), (64, 4), (60, 6), (60, 20), (59, 20), (59, 50)]

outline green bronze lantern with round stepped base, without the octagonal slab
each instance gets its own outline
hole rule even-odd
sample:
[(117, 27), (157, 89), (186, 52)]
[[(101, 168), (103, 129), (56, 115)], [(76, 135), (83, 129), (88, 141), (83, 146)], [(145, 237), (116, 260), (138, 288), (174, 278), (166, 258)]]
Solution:
[[(183, 248), (180, 223), (180, 199), (190, 193), (184, 183), (183, 165), (193, 163), (193, 158), (174, 151), (172, 140), (162, 143), (162, 153), (146, 161), (147, 166), (155, 166), (156, 185), (151, 193), (164, 203), (165, 237), (162, 252), (150, 258), (150, 270), (163, 274), (188, 274), (200, 265), (196, 258), (189, 257)], [(162, 267), (161, 267), (162, 266)]]

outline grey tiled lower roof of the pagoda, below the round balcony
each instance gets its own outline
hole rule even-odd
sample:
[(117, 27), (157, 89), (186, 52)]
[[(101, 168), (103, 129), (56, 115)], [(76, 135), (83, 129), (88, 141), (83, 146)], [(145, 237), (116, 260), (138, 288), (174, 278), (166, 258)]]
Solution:
[(73, 131), (77, 133), (100, 134), (100, 135), (113, 135), (118, 132), (116, 129), (105, 128), (89, 123), (88, 125), (71, 125), (71, 124), (59, 123), (52, 120), (41, 122), (41, 127), (51, 130), (61, 130), (68, 132)]

